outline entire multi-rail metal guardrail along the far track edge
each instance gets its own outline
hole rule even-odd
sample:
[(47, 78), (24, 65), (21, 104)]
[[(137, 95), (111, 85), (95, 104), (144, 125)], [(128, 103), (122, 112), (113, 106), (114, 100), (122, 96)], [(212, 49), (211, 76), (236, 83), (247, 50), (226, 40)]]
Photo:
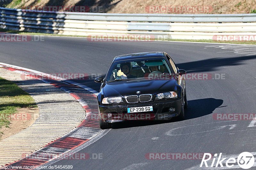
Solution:
[(256, 14), (112, 14), (0, 8), (0, 27), (66, 35), (147, 34), (209, 39), (212, 34), (256, 34)]

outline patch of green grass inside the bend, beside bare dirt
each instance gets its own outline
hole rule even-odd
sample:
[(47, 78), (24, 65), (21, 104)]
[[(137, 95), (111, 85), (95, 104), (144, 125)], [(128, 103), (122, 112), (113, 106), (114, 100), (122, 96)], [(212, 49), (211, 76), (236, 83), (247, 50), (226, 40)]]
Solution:
[[(17, 108), (36, 108), (34, 99), (18, 85), (0, 77), (0, 128), (9, 127), (8, 116), (17, 113)], [(1, 131), (0, 131), (1, 134)]]

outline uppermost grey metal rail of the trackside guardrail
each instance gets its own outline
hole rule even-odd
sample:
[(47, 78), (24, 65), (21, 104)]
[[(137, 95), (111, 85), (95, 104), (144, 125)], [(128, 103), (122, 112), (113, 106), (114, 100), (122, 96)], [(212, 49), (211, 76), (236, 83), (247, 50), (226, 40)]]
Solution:
[(1, 14), (93, 21), (141, 21), (141, 22), (256, 22), (256, 14), (115, 14), (115, 13), (82, 13), (51, 12), (21, 9), (0, 8)]

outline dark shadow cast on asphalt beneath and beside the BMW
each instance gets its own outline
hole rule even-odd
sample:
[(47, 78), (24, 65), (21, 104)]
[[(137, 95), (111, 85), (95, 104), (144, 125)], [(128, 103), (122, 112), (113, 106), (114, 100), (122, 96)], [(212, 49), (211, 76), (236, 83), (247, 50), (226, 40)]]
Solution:
[[(197, 117), (212, 114), (212, 112), (217, 107), (220, 107), (222, 103), (223, 103), (223, 100), (214, 99), (214, 98), (189, 100), (188, 108), (185, 109), (185, 120), (194, 119)], [(176, 118), (173, 118), (171, 120), (166, 120), (166, 121), (126, 121), (126, 122), (114, 123), (112, 125), (112, 129), (149, 126), (149, 125), (179, 122), (179, 121), (183, 121), (183, 120), (177, 120)]]

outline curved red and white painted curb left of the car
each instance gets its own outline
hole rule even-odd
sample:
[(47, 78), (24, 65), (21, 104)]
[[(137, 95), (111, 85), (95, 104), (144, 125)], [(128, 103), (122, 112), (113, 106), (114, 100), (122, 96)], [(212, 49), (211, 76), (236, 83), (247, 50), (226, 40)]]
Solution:
[[(0, 67), (19, 72), (21, 74), (26, 74), (27, 76), (31, 77), (34, 77), (35, 75), (46, 75), (42, 72), (5, 63), (0, 63)], [(102, 130), (99, 127), (98, 101), (96, 97), (96, 91), (84, 85), (76, 84), (72, 81), (67, 81), (62, 78), (52, 77), (50, 75), (49, 77), (52, 79), (40, 79), (46, 83), (54, 85), (55, 87), (61, 88), (73, 96), (85, 109), (86, 117), (77, 128), (73, 129), (63, 137), (60, 137), (59, 139), (53, 141), (50, 144), (47, 144), (38, 151), (33, 152), (23, 157), (22, 159), (7, 165), (5, 169), (12, 169), (14, 166), (41, 166), (44, 164), (49, 165), (49, 162), (51, 161), (56, 162), (57, 158), (64, 159), (70, 155), (69, 153), (74, 153), (74, 151), (77, 152), (89, 144), (92, 144), (109, 131), (109, 129)]]

